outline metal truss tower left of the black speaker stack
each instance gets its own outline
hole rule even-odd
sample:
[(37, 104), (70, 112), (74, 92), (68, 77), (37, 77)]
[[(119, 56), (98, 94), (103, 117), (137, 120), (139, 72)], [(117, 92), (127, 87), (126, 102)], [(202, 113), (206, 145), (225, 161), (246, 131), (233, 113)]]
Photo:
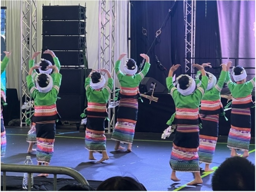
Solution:
[(26, 124), (29, 110), (22, 110), (22, 101), (30, 100), (30, 90), (27, 87), (26, 76), (29, 72), (28, 60), (36, 50), (36, 23), (37, 3), (36, 0), (22, 0), (20, 7), (20, 28), (21, 28), (21, 64), (20, 64), (20, 126)]

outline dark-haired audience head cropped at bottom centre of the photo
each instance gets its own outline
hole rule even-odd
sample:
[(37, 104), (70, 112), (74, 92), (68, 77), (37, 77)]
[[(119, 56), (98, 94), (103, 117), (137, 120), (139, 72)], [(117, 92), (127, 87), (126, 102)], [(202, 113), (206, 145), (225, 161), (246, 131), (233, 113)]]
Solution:
[(116, 176), (103, 181), (97, 191), (147, 191), (147, 189), (132, 177)]

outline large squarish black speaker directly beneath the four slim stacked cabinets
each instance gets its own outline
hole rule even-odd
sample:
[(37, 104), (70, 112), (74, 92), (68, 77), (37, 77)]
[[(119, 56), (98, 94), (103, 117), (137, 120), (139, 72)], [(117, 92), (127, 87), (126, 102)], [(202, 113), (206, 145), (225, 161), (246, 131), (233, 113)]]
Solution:
[(61, 68), (62, 74), (59, 94), (84, 94), (85, 69)]

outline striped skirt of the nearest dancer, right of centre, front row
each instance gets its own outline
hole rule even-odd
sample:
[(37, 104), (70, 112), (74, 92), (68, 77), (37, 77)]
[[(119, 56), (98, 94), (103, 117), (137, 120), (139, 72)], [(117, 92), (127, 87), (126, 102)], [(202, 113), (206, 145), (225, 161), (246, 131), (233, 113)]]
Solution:
[(199, 126), (177, 124), (173, 140), (170, 166), (178, 172), (200, 172)]

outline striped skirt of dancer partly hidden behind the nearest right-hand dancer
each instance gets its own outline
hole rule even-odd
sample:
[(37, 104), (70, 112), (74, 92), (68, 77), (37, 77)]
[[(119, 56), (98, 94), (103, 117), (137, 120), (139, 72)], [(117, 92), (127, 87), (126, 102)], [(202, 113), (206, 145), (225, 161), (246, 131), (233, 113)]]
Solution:
[(218, 140), (219, 114), (200, 114), (202, 129), (199, 130), (199, 162), (210, 164)]

